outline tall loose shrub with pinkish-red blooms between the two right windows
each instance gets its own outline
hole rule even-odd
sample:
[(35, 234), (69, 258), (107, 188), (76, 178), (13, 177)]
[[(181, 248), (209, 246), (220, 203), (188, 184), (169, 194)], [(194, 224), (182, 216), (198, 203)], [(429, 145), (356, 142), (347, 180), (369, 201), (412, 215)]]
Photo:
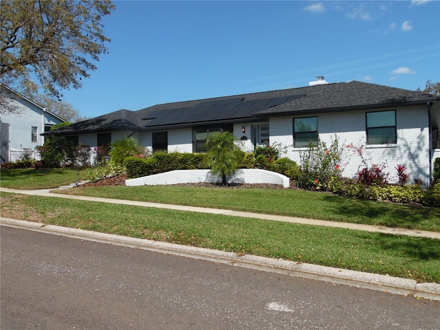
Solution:
[(351, 145), (339, 145), (335, 135), (331, 145), (327, 146), (318, 136), (318, 143), (309, 144), (306, 151), (300, 152), (300, 174), (297, 185), (300, 188), (311, 190), (327, 190), (333, 177), (341, 177), (342, 170), (347, 163), (343, 163), (347, 156), (347, 149)]

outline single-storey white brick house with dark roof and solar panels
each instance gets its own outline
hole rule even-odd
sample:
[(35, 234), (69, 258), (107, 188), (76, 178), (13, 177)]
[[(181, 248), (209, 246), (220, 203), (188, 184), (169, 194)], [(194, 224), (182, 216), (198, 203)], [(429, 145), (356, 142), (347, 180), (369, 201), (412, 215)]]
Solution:
[(319, 77), (307, 87), (115, 111), (53, 133), (90, 146), (132, 136), (153, 151), (192, 153), (201, 151), (210, 132), (232, 131), (246, 151), (277, 144), (298, 164), (319, 133), (327, 145), (335, 136), (350, 145), (341, 164), (346, 177), (354, 177), (364, 159), (370, 166), (385, 164), (390, 181), (397, 181), (400, 164), (411, 182), (428, 184), (440, 157), (439, 127), (440, 96), (358, 81), (329, 84)]

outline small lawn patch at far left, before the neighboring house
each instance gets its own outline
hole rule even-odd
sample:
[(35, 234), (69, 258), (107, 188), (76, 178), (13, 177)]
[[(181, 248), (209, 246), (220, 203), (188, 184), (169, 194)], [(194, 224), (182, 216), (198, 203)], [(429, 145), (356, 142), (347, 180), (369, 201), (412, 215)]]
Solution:
[(72, 184), (76, 179), (85, 179), (84, 172), (75, 168), (2, 168), (0, 185), (3, 188), (46, 189)]

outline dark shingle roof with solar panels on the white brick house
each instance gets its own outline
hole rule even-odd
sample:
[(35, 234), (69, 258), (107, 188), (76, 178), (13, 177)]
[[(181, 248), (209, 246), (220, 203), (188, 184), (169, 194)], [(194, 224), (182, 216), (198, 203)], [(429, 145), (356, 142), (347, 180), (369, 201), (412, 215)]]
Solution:
[(351, 81), (157, 104), (139, 111), (119, 110), (53, 133), (154, 131), (215, 122), (261, 120), (274, 115), (395, 107), (439, 100), (439, 96), (418, 91)]

